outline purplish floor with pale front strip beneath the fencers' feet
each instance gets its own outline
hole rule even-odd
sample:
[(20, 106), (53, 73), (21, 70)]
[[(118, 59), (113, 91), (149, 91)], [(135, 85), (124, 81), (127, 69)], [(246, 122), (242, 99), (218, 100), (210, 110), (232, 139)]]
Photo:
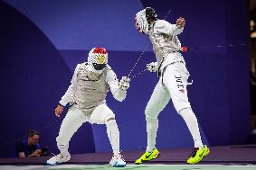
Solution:
[[(136, 166), (134, 161), (143, 151), (122, 152), (128, 166), (118, 169), (136, 170), (256, 170), (256, 145), (212, 147), (208, 157), (195, 166), (185, 165), (191, 148), (158, 149), (160, 157), (148, 164)], [(44, 166), (47, 157), (0, 158), (0, 170), (40, 169), (116, 169), (109, 166), (111, 153), (89, 153), (71, 155), (71, 160), (60, 166)]]

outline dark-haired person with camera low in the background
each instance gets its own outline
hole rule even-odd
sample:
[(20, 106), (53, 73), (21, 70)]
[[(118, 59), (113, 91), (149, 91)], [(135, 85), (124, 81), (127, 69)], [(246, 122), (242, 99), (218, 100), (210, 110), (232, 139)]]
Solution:
[(26, 139), (23, 139), (15, 147), (16, 156), (24, 157), (40, 157), (42, 150), (38, 143), (40, 133), (37, 130), (29, 130)]

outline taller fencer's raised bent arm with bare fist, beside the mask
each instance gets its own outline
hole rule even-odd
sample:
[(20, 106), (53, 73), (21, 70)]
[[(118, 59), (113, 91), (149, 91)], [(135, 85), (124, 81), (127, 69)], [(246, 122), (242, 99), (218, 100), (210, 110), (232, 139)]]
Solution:
[(176, 24), (171, 24), (165, 20), (157, 20), (154, 26), (154, 31), (165, 33), (167, 35), (178, 35), (184, 31), (184, 26), (184, 18), (177, 19)]

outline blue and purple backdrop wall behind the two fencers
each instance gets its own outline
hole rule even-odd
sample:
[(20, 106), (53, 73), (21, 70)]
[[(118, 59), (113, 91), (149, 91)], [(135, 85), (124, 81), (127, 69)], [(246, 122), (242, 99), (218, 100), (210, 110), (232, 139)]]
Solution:
[[(194, 1), (42, 1), (0, 3), (1, 119), (0, 157), (9, 157), (14, 142), (28, 130), (41, 130), (41, 143), (57, 152), (55, 138), (62, 121), (53, 111), (67, 89), (74, 67), (95, 46), (109, 49), (109, 65), (119, 78), (148, 43), (134, 28), (134, 15), (146, 6), (168, 22), (185, 17), (183, 45), (202, 47), (184, 54), (194, 84), (190, 102), (204, 143), (245, 144), (250, 130), (247, 4), (243, 0)], [(239, 11), (239, 14), (237, 14)], [(218, 45), (224, 46), (217, 48)], [(146, 50), (133, 75), (155, 60)], [(132, 75), (132, 76), (133, 76)], [(146, 147), (144, 109), (157, 77), (145, 73), (131, 80), (128, 98), (108, 96), (115, 112), (122, 150)], [(193, 147), (185, 122), (170, 103), (159, 116), (158, 148)], [(71, 139), (71, 153), (110, 151), (104, 125), (85, 123)]]

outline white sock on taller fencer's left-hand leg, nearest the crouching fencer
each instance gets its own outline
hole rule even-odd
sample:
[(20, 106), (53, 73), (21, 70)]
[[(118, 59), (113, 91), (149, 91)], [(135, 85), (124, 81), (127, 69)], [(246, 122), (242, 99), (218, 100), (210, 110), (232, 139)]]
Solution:
[(157, 119), (147, 119), (147, 152), (156, 148), (156, 132), (158, 129)]

